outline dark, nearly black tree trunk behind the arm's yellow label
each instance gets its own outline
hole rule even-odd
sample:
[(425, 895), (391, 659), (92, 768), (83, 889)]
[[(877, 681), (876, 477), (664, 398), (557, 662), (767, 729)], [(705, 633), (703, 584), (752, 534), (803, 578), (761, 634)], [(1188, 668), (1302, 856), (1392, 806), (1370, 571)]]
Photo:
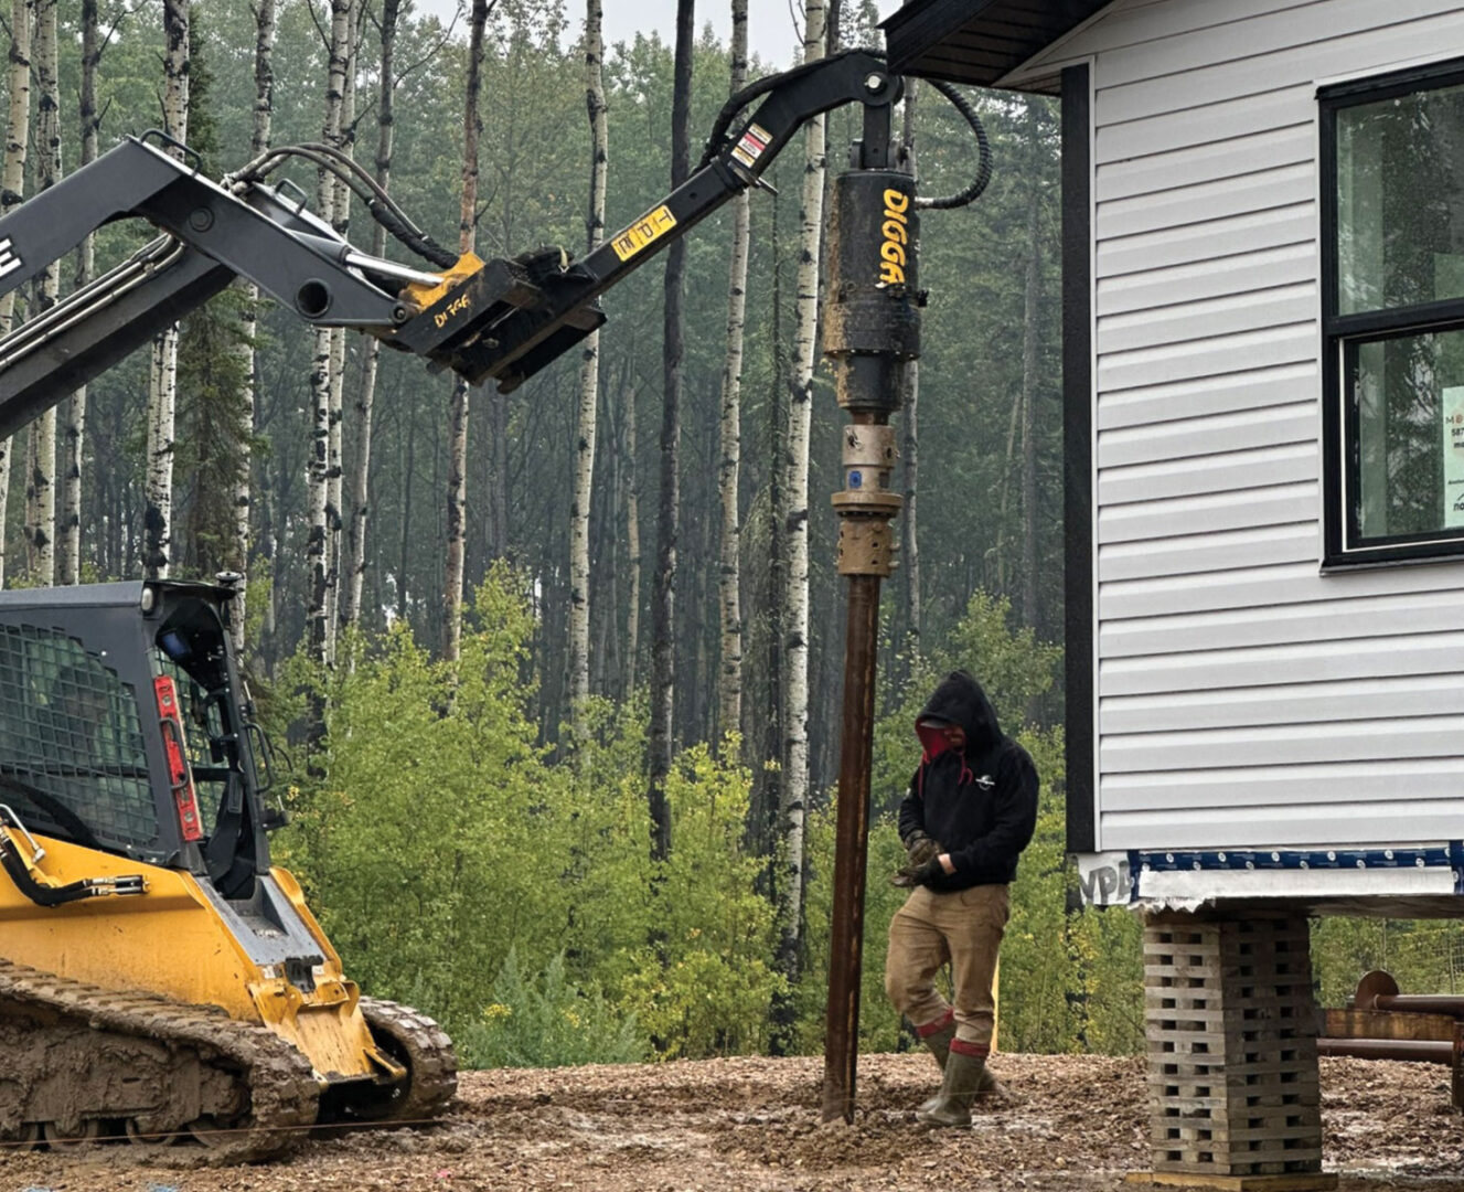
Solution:
[[(676, 51), (671, 100), (671, 186), (675, 190), (691, 168), (691, 53), (695, 38), (694, 0), (676, 0)], [(651, 857), (671, 855), (672, 718), (676, 703), (676, 539), (681, 533), (681, 306), (685, 240), (666, 253), (665, 346), (662, 349), (660, 507), (656, 518), (656, 586), (651, 597), (650, 678), (650, 820)]]

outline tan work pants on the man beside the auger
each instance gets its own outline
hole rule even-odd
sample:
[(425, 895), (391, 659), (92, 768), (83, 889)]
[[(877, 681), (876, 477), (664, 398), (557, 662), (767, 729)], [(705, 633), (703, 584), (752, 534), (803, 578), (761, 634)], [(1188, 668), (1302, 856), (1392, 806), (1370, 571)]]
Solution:
[[(935, 893), (916, 886), (890, 920), (884, 991), (915, 1028), (955, 1012), (956, 1038), (984, 1053), (996, 1025), (993, 978), (1009, 914), (1006, 886)], [(950, 961), (953, 1003), (935, 990), (935, 972)]]

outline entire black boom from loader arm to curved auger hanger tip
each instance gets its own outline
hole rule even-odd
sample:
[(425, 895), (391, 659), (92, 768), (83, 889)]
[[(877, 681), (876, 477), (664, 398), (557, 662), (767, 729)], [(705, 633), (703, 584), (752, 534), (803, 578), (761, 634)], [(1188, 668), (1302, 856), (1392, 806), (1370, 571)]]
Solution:
[[(764, 98), (766, 97), (766, 98)], [(881, 108), (900, 81), (880, 56), (851, 50), (754, 83), (723, 111), (685, 183), (584, 261), (559, 249), (451, 268), (400, 209), (373, 215), (432, 269), (357, 252), (264, 177), (284, 157), (319, 164), (322, 146), (266, 154), (215, 183), (165, 152), (167, 138), (127, 138), (0, 218), (0, 294), (34, 280), (97, 228), (141, 218), (163, 234), (117, 268), (0, 340), (0, 436), (7, 436), (133, 349), (244, 277), (306, 322), (353, 327), (508, 392), (605, 322), (597, 299), (729, 199), (761, 185), (779, 149), (811, 117), (842, 104)], [(739, 111), (755, 98), (751, 119)], [(158, 141), (158, 146), (148, 144)], [(189, 151), (176, 146), (184, 155)], [(312, 157), (313, 155), (313, 157)], [(196, 158), (193, 158), (196, 161)], [(410, 233), (410, 234), (408, 234)], [(426, 247), (423, 247), (426, 246)]]

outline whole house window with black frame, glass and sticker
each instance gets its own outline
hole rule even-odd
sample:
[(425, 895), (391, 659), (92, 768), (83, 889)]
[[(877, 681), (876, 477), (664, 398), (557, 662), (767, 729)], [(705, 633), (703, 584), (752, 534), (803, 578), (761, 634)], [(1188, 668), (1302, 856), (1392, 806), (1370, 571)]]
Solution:
[(1325, 564), (1464, 555), (1464, 60), (1318, 98)]

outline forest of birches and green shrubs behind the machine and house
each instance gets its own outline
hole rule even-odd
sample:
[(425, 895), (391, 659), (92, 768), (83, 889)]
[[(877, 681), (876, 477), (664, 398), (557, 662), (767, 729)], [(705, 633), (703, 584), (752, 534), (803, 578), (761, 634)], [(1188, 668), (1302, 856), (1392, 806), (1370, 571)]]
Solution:
[[(476, 0), (447, 26), (410, 0), (6, 6), (6, 206), (149, 127), (183, 133), (215, 177), (265, 144), (324, 139), (485, 258), (583, 252), (628, 224), (671, 186), (676, 114), (695, 152), (736, 79), (764, 73), (735, 0), (732, 44), (697, 34), (682, 0), (679, 72), (654, 35), (602, 48), (596, 0)], [(870, 4), (810, 3), (804, 21), (805, 54), (877, 44)], [(1001, 1047), (1130, 1051), (1138, 921), (1082, 909), (1063, 857), (1057, 113), (975, 104), (994, 180), (969, 209), (927, 212), (921, 239), (931, 297), (900, 476), (918, 501), (881, 609), (861, 1046), (912, 1046), (883, 996), (893, 808), (925, 693), (965, 666), (1042, 775)], [(960, 189), (969, 130), (934, 92), (906, 107), (922, 193)], [(830, 116), (829, 176), (855, 135)], [(10, 586), (247, 575), (244, 665), (296, 756), (277, 858), (347, 971), (436, 1015), (467, 1063), (821, 1047), (843, 627), (821, 493), (842, 486), (843, 417), (807, 360), (820, 157), (796, 139), (752, 196), (745, 286), (735, 205), (684, 242), (679, 347), (660, 262), (606, 296), (596, 351), (509, 397), (236, 287), (182, 325), (171, 390), (160, 343), (6, 451)], [(369, 245), (359, 205), (353, 224), (315, 170), (291, 177)], [(97, 262), (145, 239), (107, 228)], [(64, 294), (60, 274), (13, 318)], [(1318, 924), (1323, 1003), (1382, 965), (1454, 991), (1457, 936)]]

